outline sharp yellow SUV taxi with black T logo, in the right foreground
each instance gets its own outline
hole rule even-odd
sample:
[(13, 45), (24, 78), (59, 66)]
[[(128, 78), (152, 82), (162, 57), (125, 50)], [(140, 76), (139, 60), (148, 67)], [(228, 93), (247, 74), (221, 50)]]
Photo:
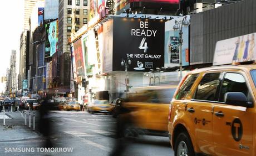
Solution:
[(175, 155), (256, 155), (256, 65), (194, 70), (169, 108)]

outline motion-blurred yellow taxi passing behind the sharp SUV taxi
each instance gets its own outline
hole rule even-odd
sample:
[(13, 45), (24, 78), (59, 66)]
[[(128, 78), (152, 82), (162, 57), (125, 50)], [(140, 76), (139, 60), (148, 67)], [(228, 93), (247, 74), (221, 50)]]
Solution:
[(147, 86), (131, 90), (129, 99), (122, 102), (122, 106), (131, 111), (129, 116), (134, 126), (167, 134), (169, 105), (176, 87), (177, 85)]

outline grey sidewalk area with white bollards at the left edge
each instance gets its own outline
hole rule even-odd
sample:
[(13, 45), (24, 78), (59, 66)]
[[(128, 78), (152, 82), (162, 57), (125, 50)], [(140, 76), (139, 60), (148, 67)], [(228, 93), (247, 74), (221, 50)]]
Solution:
[[(8, 117), (8, 119), (6, 118), (6, 126), (3, 126), (3, 112), (0, 113), (0, 142), (41, 137), (41, 134), (37, 131), (24, 126), (24, 118), (21, 112), (6, 112), (6, 116)], [(32, 124), (31, 127), (33, 127)]]

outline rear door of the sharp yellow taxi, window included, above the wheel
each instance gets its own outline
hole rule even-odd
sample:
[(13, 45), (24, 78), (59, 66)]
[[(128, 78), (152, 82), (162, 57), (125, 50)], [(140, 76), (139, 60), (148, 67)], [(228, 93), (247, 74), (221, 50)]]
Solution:
[(186, 106), (191, 121), (195, 125), (195, 141), (200, 152), (214, 154), (213, 145), (213, 106), (218, 98), (220, 72), (211, 72), (203, 75), (193, 99)]

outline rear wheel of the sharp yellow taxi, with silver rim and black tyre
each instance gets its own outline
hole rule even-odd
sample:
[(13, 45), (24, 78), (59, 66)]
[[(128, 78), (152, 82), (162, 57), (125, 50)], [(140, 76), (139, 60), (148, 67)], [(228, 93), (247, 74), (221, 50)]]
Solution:
[(189, 134), (181, 132), (175, 142), (175, 156), (194, 156), (194, 148)]

